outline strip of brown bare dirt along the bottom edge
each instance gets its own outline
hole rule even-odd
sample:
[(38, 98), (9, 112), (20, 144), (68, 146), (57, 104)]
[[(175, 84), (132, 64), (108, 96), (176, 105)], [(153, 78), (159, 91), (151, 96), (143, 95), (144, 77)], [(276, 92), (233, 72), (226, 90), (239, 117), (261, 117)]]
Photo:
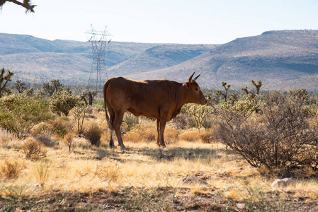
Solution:
[(258, 202), (225, 199), (215, 189), (193, 194), (190, 189), (119, 188), (116, 192), (59, 192), (2, 198), (1, 211), (318, 211), (318, 202), (287, 192), (265, 194)]

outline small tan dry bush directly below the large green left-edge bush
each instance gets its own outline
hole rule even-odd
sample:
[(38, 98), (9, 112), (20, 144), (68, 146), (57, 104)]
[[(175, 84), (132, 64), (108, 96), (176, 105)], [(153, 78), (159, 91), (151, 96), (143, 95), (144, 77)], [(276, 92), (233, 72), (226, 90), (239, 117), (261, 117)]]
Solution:
[(21, 146), (26, 159), (38, 160), (45, 158), (47, 150), (40, 141), (35, 139), (27, 139)]

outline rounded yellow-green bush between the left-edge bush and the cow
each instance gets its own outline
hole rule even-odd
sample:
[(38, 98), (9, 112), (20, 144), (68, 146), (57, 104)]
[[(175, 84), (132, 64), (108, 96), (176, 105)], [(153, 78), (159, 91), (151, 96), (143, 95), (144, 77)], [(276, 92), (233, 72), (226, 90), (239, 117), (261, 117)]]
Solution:
[(70, 94), (67, 90), (54, 93), (50, 100), (50, 110), (58, 115), (69, 115), (69, 111), (78, 106), (81, 98)]

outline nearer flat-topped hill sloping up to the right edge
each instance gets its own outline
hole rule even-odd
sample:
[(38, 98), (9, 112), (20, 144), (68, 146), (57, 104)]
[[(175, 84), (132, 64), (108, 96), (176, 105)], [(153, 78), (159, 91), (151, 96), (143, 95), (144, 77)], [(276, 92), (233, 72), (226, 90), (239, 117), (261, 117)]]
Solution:
[(127, 77), (185, 81), (193, 71), (201, 73), (198, 81), (208, 88), (221, 89), (222, 81), (241, 88), (251, 86), (254, 79), (263, 81), (266, 90), (289, 87), (318, 91), (318, 31), (270, 31), (243, 37), (176, 66)]

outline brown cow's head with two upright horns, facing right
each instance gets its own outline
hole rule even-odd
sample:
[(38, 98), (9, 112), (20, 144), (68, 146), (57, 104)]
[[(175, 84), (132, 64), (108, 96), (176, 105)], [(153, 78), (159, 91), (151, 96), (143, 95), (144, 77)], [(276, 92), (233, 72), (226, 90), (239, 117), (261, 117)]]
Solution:
[(194, 73), (195, 72), (193, 72), (193, 74), (189, 78), (189, 81), (183, 84), (183, 86), (186, 86), (186, 88), (188, 89), (188, 101), (200, 105), (205, 105), (208, 102), (208, 100), (205, 99), (200, 89), (200, 86), (198, 85), (198, 83), (195, 82), (196, 79), (200, 76), (200, 74), (193, 78)]

